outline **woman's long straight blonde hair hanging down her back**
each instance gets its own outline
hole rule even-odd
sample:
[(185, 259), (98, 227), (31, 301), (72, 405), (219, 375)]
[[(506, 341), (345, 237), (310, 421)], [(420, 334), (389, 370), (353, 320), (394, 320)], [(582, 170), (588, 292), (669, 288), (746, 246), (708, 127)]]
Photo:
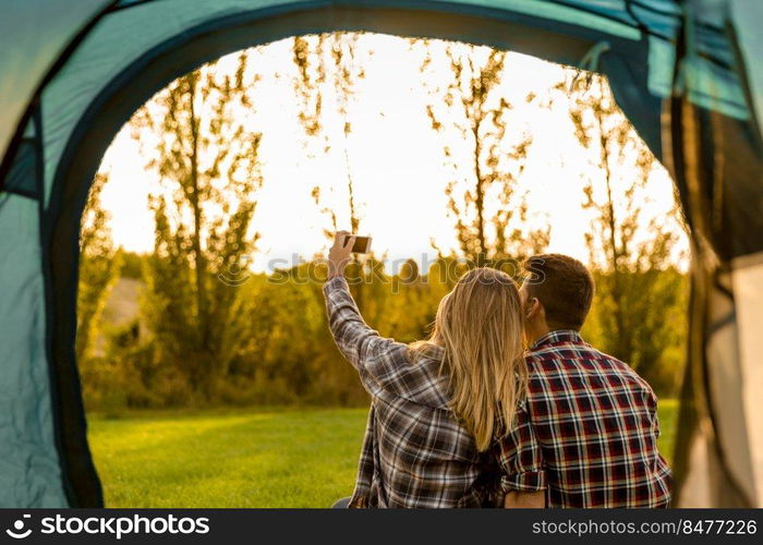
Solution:
[(523, 314), (517, 283), (505, 272), (475, 268), (440, 301), (428, 340), (410, 346), (415, 361), (445, 350), (440, 371), (450, 378), (450, 408), (474, 436), (479, 451), (497, 427), (510, 429), (524, 397)]

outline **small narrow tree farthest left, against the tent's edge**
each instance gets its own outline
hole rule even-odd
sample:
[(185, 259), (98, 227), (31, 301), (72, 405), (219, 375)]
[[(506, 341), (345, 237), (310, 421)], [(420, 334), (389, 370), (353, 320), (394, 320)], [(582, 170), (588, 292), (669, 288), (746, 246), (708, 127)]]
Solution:
[(106, 172), (96, 174), (82, 216), (75, 342), (76, 360), (81, 365), (92, 355), (106, 301), (119, 276), (120, 259), (111, 240), (109, 213), (100, 203), (100, 193), (108, 179)]

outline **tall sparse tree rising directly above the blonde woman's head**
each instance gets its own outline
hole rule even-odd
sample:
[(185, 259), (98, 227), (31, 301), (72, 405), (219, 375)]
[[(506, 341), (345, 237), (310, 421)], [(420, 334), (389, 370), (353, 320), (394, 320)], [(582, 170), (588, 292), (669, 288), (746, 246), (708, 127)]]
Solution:
[[(424, 41), (422, 74), (437, 61), (438, 49)], [(486, 264), (521, 259), (541, 252), (549, 229), (528, 229), (526, 196), (518, 189), (532, 136), (508, 131), (513, 106), (501, 96), (506, 52), (448, 44), (441, 53), (452, 77), (444, 88), (428, 86), (426, 111), (433, 130), (444, 136), (444, 155), (452, 178), (446, 185), (460, 253)], [(436, 75), (425, 77), (436, 81)], [(537, 99), (529, 94), (528, 102)], [(510, 137), (512, 134), (519, 136)], [(468, 168), (468, 171), (463, 169)], [(491, 203), (497, 203), (492, 207)]]

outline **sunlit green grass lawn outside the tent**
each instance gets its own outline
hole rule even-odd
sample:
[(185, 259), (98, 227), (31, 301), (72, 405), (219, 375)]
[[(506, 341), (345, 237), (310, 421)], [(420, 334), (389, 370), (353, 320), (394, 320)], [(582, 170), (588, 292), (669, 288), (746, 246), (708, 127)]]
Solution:
[[(670, 455), (677, 403), (661, 404)], [(89, 417), (108, 507), (328, 507), (352, 492), (365, 409)]]

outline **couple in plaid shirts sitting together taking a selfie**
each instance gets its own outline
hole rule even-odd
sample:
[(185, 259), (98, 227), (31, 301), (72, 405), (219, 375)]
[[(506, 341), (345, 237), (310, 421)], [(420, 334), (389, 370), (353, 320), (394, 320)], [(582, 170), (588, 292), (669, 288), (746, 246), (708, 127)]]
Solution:
[[(594, 284), (577, 259), (463, 275), (428, 340), (385, 339), (361, 317), (337, 233), (324, 287), (331, 334), (371, 393), (355, 491), (337, 507), (667, 507), (657, 400), (580, 336)], [(524, 343), (530, 347), (524, 350)]]

